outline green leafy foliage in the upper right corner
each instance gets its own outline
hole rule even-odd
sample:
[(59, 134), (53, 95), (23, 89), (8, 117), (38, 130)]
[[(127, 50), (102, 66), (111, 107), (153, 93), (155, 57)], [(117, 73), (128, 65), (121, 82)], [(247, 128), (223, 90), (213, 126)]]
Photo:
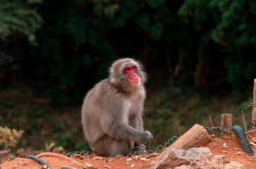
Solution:
[(256, 49), (254, 9), (255, 2), (250, 0), (187, 0), (179, 11), (186, 23), (193, 23), (195, 30), (206, 28), (201, 30), (202, 37), (208, 36), (223, 46), (227, 80), (240, 92), (247, 87), (246, 84), (252, 83), (256, 75), (256, 57), (251, 56)]

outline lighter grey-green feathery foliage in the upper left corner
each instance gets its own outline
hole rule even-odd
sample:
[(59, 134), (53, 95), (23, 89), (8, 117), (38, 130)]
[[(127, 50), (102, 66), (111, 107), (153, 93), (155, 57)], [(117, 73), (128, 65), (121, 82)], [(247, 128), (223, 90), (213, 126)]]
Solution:
[(6, 39), (14, 32), (25, 34), (30, 42), (35, 42), (35, 32), (42, 23), (42, 17), (35, 11), (35, 4), (42, 0), (1, 0), (0, 38)]

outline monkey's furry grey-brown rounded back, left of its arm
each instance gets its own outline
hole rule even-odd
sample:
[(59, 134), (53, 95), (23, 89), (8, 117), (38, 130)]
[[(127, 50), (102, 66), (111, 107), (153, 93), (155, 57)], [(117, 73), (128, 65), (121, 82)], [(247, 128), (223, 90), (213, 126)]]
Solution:
[[(114, 91), (114, 92), (113, 92)], [(109, 117), (115, 107), (111, 106), (111, 102), (121, 101), (121, 96), (116, 98), (118, 92), (109, 79), (102, 80), (95, 84), (95, 87), (85, 96), (82, 106), (82, 124), (85, 138), (89, 144), (95, 143), (97, 139), (104, 137), (106, 134), (103, 130), (104, 121)], [(105, 117), (105, 118), (103, 118)]]

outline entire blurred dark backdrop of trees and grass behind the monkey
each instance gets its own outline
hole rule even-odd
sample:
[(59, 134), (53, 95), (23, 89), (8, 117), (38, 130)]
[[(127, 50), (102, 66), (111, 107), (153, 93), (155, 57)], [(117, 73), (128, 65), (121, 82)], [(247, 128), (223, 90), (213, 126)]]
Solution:
[(252, 0), (0, 0), (0, 125), (25, 130), (25, 145), (86, 149), (83, 97), (122, 57), (150, 75), (154, 144), (176, 123), (238, 116), (256, 77), (255, 11)]

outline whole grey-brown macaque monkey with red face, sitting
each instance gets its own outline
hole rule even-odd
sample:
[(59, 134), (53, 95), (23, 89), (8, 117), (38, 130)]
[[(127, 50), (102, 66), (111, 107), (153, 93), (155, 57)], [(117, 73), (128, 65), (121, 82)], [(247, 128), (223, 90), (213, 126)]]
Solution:
[(115, 61), (109, 78), (97, 83), (85, 96), (82, 124), (92, 151), (103, 156), (142, 151), (153, 136), (144, 131), (146, 74), (132, 58)]

